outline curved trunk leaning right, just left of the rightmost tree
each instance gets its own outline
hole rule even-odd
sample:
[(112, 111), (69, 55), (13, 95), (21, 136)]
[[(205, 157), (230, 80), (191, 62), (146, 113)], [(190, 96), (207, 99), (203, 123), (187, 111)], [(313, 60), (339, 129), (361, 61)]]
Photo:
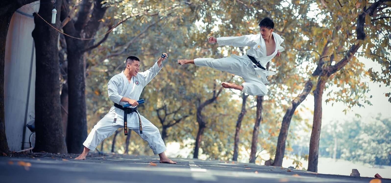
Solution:
[(292, 105), (289, 106), (287, 109), (287, 112), (285, 113), (283, 119), (282, 119), (282, 125), (280, 130), (280, 135), (278, 135), (278, 142), (277, 142), (277, 149), (276, 149), (276, 157), (274, 158), (273, 166), (282, 166), (282, 160), (284, 158), (285, 153), (285, 142), (287, 140), (288, 136), (288, 130), (289, 130), (289, 124), (291, 124), (291, 119), (294, 114), (294, 111), (296, 111), (296, 108), (307, 98), (308, 93), (310, 93), (312, 89), (312, 83), (311, 81), (307, 81), (304, 86), (303, 92), (300, 93), (299, 96), (296, 97), (292, 101)]

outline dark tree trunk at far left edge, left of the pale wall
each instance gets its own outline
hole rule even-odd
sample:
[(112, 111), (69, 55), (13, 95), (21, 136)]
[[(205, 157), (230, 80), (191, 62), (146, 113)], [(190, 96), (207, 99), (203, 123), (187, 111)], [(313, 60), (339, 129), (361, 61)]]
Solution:
[(0, 156), (9, 153), (7, 136), (5, 135), (4, 116), (4, 65), (5, 65), (5, 42), (7, 39), (8, 27), (13, 13), (5, 13), (0, 16)]

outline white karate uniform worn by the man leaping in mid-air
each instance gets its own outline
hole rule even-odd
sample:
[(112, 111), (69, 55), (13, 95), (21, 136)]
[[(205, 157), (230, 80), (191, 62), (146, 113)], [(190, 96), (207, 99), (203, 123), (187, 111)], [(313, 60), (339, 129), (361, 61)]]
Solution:
[[(280, 35), (272, 32), (274, 41), (276, 43), (276, 49), (273, 54), (266, 56), (266, 45), (265, 40), (261, 34), (251, 34), (245, 36), (231, 36), (217, 38), (219, 45), (230, 45), (234, 47), (249, 46), (247, 54), (255, 57), (256, 61), (266, 68), (266, 64), (276, 56), (277, 51), (282, 52), (284, 48), (281, 43), (284, 39)], [(196, 58), (194, 59), (196, 66), (208, 66), (216, 70), (226, 71), (231, 74), (239, 75), (243, 78), (244, 83), (242, 92), (249, 95), (266, 95), (268, 90), (266, 88), (267, 76), (274, 75), (275, 72), (263, 70), (258, 68), (247, 55), (226, 57), (221, 59), (213, 58)]]

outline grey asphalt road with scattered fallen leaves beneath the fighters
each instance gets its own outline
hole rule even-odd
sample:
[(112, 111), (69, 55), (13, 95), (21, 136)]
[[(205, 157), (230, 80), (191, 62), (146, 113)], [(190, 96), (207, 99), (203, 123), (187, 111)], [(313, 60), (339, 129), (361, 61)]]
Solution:
[[(86, 160), (72, 160), (71, 158), (0, 157), (0, 182), (369, 183), (374, 179), (316, 174), (295, 169), (232, 161), (202, 161), (176, 158), (173, 158), (173, 160), (177, 161), (178, 164), (159, 163), (158, 156), (106, 156), (87, 158)], [(381, 179), (381, 183), (391, 183), (391, 179)]]

